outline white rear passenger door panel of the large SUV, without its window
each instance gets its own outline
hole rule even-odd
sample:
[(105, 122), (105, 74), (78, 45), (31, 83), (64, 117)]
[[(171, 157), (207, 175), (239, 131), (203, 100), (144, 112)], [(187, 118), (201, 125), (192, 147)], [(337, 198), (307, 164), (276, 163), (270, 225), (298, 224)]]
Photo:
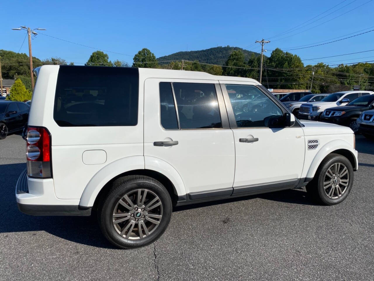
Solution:
[[(178, 171), (186, 193), (232, 187), (235, 147), (231, 129), (165, 130), (160, 124), (159, 82), (180, 79), (147, 79), (144, 82), (144, 155), (160, 158)], [(211, 83), (214, 80), (188, 80)], [(154, 146), (155, 141), (178, 141), (178, 145)], [(148, 169), (147, 163), (145, 169)]]

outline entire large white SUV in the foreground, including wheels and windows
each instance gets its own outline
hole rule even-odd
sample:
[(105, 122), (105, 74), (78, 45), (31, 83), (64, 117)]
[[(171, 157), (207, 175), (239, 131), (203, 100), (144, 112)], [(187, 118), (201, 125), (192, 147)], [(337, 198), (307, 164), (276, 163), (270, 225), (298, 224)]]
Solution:
[(175, 205), (302, 186), (333, 205), (352, 188), (352, 130), (300, 123), (253, 79), (122, 67), (36, 72), (27, 170), (16, 185), (26, 214), (95, 213), (111, 243), (135, 248), (162, 235)]

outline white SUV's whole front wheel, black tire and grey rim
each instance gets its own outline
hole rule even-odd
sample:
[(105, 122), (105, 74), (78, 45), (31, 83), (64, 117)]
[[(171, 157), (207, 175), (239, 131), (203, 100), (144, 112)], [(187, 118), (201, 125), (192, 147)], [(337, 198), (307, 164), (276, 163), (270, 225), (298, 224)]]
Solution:
[(320, 164), (307, 192), (324, 205), (335, 205), (348, 196), (353, 185), (353, 167), (339, 154), (329, 154)]

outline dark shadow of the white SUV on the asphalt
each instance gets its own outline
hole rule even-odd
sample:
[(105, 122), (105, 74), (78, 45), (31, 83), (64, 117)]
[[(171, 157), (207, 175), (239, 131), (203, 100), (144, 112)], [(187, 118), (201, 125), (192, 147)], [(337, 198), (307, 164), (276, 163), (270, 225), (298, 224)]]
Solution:
[[(115, 249), (101, 234), (96, 217), (64, 217), (64, 216), (31, 216), (18, 210), (15, 200), (15, 186), (18, 176), (25, 169), (25, 163), (0, 165), (3, 171), (0, 176), (0, 233), (27, 232), (30, 239), (44, 231), (68, 241), (84, 244), (92, 247)], [(313, 204), (306, 198), (306, 192), (302, 189), (283, 190), (272, 193), (257, 194), (253, 196), (216, 200), (206, 203), (175, 207), (174, 212), (186, 209), (194, 209), (203, 206), (218, 205), (242, 200), (261, 198), (292, 204)], [(6, 234), (6, 236), (9, 234)], [(22, 239), (25, 236), (22, 235)]]

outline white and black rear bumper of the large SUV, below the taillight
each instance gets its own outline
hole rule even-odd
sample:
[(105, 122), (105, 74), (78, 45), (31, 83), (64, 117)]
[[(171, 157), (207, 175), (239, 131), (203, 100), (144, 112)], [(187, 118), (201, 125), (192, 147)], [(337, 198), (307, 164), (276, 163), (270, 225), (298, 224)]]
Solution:
[(55, 196), (53, 179), (31, 179), (25, 169), (16, 184), (19, 211), (27, 215), (91, 215), (91, 208), (79, 206), (79, 199), (62, 200)]

